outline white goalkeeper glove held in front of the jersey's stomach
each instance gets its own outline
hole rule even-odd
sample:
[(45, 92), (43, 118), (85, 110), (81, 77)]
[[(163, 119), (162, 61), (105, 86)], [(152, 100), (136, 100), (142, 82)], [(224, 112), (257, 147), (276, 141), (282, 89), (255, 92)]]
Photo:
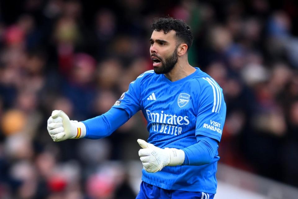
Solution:
[(165, 166), (177, 166), (184, 162), (185, 153), (181, 149), (161, 149), (141, 139), (138, 143), (142, 147), (139, 150), (140, 160), (147, 172), (155, 173)]

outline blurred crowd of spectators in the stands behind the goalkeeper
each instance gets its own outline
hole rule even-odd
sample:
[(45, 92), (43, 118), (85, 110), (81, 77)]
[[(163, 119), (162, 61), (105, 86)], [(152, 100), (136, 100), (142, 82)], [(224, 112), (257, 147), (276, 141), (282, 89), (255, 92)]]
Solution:
[(273, 2), (2, 0), (0, 198), (135, 197), (141, 113), (102, 140), (55, 143), (46, 126), (55, 109), (105, 113), (151, 70), (157, 16), (192, 27), (190, 64), (223, 88), (220, 162), (298, 187), (298, 3)]

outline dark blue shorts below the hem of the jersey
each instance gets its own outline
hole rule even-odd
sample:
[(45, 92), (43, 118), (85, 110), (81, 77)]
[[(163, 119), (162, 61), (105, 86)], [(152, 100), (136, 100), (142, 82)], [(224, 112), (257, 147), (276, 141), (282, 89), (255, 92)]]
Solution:
[[(202, 197), (203, 194), (203, 197)], [(142, 182), (140, 185), (140, 192), (136, 199), (213, 199), (214, 194), (203, 192), (187, 192), (177, 190), (166, 190), (154, 185)]]

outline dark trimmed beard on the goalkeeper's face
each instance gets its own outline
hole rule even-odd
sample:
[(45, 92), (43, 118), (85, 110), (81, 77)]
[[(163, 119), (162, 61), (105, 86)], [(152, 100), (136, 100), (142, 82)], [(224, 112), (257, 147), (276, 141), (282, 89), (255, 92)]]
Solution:
[(154, 72), (156, 74), (166, 74), (174, 68), (175, 64), (178, 61), (177, 49), (178, 49), (178, 46), (174, 50), (174, 53), (171, 56), (165, 58), (165, 60), (160, 59), (161, 66), (154, 67)]

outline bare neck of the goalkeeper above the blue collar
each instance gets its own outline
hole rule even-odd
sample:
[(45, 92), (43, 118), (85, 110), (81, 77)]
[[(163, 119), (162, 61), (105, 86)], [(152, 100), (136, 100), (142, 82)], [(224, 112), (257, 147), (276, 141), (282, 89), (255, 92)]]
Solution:
[(189, 65), (188, 62), (184, 63), (179, 63), (177, 62), (174, 68), (165, 74), (165, 76), (170, 80), (170, 81), (178, 81), (183, 79), (186, 76), (191, 75), (194, 73), (196, 69)]

